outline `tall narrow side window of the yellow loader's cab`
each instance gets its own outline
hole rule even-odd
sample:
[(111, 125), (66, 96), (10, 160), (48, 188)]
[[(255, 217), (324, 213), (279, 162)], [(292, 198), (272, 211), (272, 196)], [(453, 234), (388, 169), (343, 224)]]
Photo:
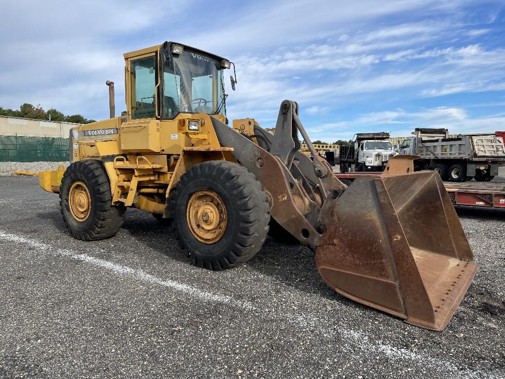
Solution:
[(131, 118), (155, 117), (156, 57), (132, 61), (131, 75)]

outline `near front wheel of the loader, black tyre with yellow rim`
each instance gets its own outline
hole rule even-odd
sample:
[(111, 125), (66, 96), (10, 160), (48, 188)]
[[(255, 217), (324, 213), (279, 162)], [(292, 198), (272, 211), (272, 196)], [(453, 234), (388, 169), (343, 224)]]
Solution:
[(267, 195), (254, 174), (236, 163), (209, 161), (187, 170), (169, 203), (179, 245), (210, 270), (254, 257), (268, 233)]

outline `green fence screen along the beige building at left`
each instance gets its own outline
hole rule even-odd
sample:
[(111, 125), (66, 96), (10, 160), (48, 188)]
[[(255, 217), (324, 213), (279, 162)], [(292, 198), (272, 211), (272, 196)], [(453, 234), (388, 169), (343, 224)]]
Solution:
[(0, 162), (68, 161), (69, 138), (0, 135)]

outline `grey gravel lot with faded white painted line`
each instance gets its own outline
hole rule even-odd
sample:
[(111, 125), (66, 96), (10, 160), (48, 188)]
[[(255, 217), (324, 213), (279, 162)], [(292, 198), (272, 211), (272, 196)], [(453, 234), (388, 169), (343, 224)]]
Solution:
[(303, 246), (211, 272), (134, 209), (73, 240), (37, 178), (0, 177), (0, 207), (0, 377), (505, 376), (505, 210), (458, 209), (480, 269), (435, 332), (334, 293)]

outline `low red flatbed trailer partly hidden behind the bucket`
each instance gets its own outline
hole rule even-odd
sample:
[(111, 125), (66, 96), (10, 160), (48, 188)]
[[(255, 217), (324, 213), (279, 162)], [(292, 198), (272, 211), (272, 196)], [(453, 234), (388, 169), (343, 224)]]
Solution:
[[(335, 173), (344, 184), (350, 184), (358, 176), (380, 175), (380, 172)], [(444, 183), (453, 205), (505, 208), (505, 185), (471, 185)]]

